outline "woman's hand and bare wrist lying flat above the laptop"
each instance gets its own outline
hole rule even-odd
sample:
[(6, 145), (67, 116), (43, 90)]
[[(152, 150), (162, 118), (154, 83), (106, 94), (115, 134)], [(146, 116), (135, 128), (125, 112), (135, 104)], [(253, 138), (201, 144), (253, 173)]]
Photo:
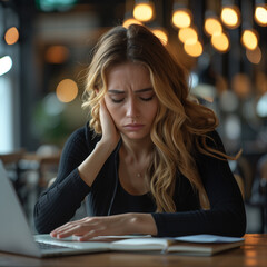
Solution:
[(86, 241), (97, 236), (121, 236), (131, 234), (157, 235), (157, 227), (150, 214), (122, 214), (105, 217), (86, 217), (70, 221), (50, 233), (51, 237), (77, 236)]

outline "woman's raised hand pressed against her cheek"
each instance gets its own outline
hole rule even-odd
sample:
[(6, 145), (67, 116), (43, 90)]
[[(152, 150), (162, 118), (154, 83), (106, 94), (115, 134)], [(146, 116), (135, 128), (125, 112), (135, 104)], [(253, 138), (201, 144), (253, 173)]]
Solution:
[(100, 142), (105, 144), (105, 146), (110, 146), (110, 149), (113, 150), (119, 142), (120, 134), (107, 109), (105, 99), (100, 102), (99, 117), (102, 129), (102, 138)]

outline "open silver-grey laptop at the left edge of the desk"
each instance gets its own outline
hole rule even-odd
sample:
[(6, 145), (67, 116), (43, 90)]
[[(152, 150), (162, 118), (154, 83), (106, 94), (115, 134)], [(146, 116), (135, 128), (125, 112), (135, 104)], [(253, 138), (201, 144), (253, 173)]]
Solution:
[(38, 258), (107, 251), (107, 241), (58, 240), (50, 235), (33, 236), (23, 208), (0, 160), (0, 251)]

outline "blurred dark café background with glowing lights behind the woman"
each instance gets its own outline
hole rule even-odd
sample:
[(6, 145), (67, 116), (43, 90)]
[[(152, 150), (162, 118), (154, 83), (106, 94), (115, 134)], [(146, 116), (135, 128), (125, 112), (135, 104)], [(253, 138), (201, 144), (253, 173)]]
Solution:
[(113, 26), (142, 23), (189, 72), (220, 120), (248, 233), (267, 228), (265, 0), (0, 0), (0, 159), (31, 218), (68, 136), (88, 120), (86, 68)]

